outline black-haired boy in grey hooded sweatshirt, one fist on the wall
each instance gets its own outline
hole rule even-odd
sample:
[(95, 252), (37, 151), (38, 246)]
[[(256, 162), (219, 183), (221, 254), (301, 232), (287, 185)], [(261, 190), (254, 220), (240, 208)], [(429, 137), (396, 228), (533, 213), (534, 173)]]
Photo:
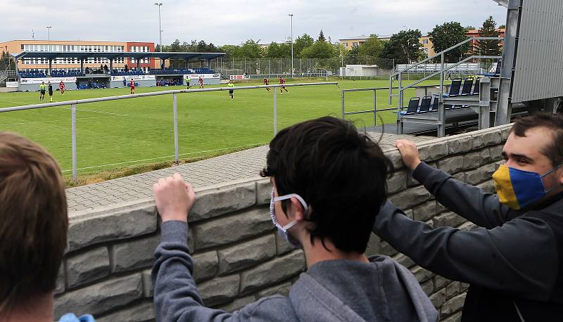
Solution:
[(160, 179), (153, 187), (163, 219), (152, 273), (156, 320), (436, 321), (410, 271), (389, 257), (365, 255), (392, 168), (351, 122), (322, 117), (280, 131), (261, 174), (272, 181), (272, 222), (303, 248), (308, 270), (289, 297), (265, 297), (233, 313), (203, 307), (194, 282), (187, 246), (194, 188), (179, 174)]

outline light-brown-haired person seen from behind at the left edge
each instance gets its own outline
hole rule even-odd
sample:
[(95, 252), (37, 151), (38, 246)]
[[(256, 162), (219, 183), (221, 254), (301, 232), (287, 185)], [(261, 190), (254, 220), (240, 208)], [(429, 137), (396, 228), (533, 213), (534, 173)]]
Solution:
[[(52, 322), (67, 245), (65, 183), (46, 150), (7, 132), (0, 132), (0, 205), (0, 321)], [(76, 321), (70, 316), (65, 321)]]

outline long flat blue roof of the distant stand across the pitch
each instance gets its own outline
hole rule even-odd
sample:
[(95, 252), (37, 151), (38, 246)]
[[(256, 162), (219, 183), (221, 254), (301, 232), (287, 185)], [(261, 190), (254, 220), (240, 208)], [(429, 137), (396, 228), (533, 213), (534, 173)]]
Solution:
[(91, 52), (91, 51), (24, 51), (13, 55), (15, 59), (23, 58), (162, 58), (162, 59), (213, 59), (224, 56), (225, 53), (168, 53), (168, 52), (148, 52), (148, 53), (131, 53), (131, 52)]

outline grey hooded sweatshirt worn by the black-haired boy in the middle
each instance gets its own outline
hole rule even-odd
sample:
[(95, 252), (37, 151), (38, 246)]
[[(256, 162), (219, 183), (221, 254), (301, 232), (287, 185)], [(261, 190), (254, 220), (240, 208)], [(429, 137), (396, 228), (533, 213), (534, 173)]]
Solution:
[(371, 263), (331, 260), (312, 265), (289, 297), (265, 297), (232, 313), (203, 306), (193, 278), (188, 227), (161, 226), (153, 266), (156, 321), (436, 321), (438, 313), (412, 273), (386, 256)]

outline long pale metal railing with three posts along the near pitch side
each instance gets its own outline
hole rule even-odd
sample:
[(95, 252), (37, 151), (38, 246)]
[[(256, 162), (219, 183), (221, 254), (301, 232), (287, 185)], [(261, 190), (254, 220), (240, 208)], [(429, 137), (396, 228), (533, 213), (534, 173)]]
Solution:
[[(131, 94), (131, 95), (121, 95), (121, 96), (107, 96), (100, 98), (87, 98), (77, 101), (65, 101), (57, 103), (45, 103), (45, 104), (35, 104), (35, 105), (20, 105), (13, 106), (10, 108), (0, 108), (0, 113), (2, 112), (12, 112), (16, 110), (36, 110), (39, 108), (53, 108), (56, 106), (70, 105), (71, 111), (71, 127), (72, 127), (72, 180), (77, 180), (78, 169), (77, 169), (77, 143), (76, 143), (76, 105), (96, 103), (96, 102), (106, 102), (115, 101), (129, 98), (141, 98), (149, 96), (160, 96), (160, 95), (170, 95), (172, 94), (172, 111), (174, 114), (174, 162), (179, 163), (179, 141), (178, 141), (178, 114), (177, 114), (177, 96), (178, 94), (184, 93), (199, 93), (205, 91), (239, 91), (243, 89), (266, 89), (266, 88), (278, 88), (281, 86), (293, 87), (293, 86), (319, 86), (319, 85), (338, 85), (337, 82), (318, 82), (318, 83), (298, 83), (298, 84), (277, 84), (277, 85), (255, 85), (255, 86), (238, 86), (238, 87), (215, 87), (211, 89), (177, 89), (172, 91), (156, 91), (151, 93), (142, 94)], [(277, 91), (274, 93), (274, 135), (277, 134)]]

